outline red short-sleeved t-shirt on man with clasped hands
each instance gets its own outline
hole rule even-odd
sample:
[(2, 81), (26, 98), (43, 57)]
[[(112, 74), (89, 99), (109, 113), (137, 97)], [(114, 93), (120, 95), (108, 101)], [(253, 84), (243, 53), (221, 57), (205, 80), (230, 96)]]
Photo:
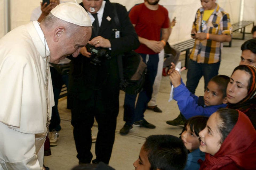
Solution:
[[(131, 23), (135, 24), (138, 36), (148, 40), (159, 41), (161, 28), (169, 28), (168, 11), (161, 5), (157, 10), (150, 10), (141, 3), (131, 9), (129, 17)], [(143, 54), (157, 54), (145, 44), (141, 44), (135, 51)]]

